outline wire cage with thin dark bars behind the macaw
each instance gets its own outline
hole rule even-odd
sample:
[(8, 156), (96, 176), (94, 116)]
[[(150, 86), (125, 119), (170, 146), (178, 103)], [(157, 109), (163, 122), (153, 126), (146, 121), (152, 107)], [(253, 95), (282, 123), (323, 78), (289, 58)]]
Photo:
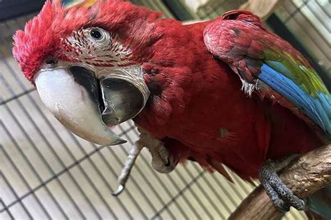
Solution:
[[(193, 12), (184, 0), (132, 2), (183, 21), (212, 19), (244, 3), (201, 1)], [(0, 1), (0, 219), (226, 219), (253, 189), (251, 184), (230, 173), (233, 184), (194, 162), (160, 174), (150, 165), (146, 150), (138, 157), (124, 193), (111, 196), (138, 131), (132, 122), (124, 123), (116, 132), (128, 143), (96, 146), (68, 132), (43, 107), (11, 53), (13, 33), (23, 29), (42, 3)], [(327, 81), (330, 13), (327, 0), (281, 1), (265, 22), (307, 56)], [(306, 218), (297, 210), (284, 217)]]

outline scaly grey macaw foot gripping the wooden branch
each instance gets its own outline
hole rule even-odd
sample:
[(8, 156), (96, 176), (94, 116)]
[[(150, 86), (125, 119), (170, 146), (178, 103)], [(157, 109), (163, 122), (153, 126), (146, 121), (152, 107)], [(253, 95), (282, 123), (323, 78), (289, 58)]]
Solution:
[(304, 210), (306, 206), (306, 203), (302, 199), (295, 196), (293, 192), (286, 187), (286, 184), (281, 182), (277, 174), (277, 171), (290, 164), (296, 157), (297, 155), (290, 155), (290, 157), (279, 159), (278, 161), (269, 159), (259, 171), (259, 179), (267, 195), (274, 205), (284, 212), (288, 212), (290, 206), (295, 207), (297, 210)]

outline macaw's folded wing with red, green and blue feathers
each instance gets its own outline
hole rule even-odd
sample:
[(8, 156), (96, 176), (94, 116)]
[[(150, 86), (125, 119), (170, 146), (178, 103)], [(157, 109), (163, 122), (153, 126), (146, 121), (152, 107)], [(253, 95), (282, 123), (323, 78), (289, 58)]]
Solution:
[(309, 62), (256, 15), (230, 11), (206, 26), (204, 41), (240, 77), (245, 93), (274, 100), (331, 138), (330, 92)]

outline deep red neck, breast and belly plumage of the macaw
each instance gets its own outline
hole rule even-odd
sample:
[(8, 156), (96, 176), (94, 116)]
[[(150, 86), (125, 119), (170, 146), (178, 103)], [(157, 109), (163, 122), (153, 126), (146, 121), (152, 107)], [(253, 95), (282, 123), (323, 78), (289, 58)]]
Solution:
[(156, 94), (135, 121), (163, 139), (176, 159), (207, 168), (221, 162), (242, 178), (257, 178), (266, 159), (321, 144), (290, 110), (241, 91), (233, 70), (207, 52), (203, 30), (209, 22), (160, 23), (157, 29), (166, 34), (143, 65)]

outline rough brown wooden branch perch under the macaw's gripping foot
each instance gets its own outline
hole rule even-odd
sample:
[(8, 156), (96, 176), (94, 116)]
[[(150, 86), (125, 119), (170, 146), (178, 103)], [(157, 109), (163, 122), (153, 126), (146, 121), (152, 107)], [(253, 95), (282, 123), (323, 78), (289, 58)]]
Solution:
[[(300, 156), (280, 172), (281, 180), (299, 198), (307, 198), (331, 184), (331, 145)], [(281, 212), (272, 204), (260, 185), (242, 201), (229, 219), (281, 219)]]

